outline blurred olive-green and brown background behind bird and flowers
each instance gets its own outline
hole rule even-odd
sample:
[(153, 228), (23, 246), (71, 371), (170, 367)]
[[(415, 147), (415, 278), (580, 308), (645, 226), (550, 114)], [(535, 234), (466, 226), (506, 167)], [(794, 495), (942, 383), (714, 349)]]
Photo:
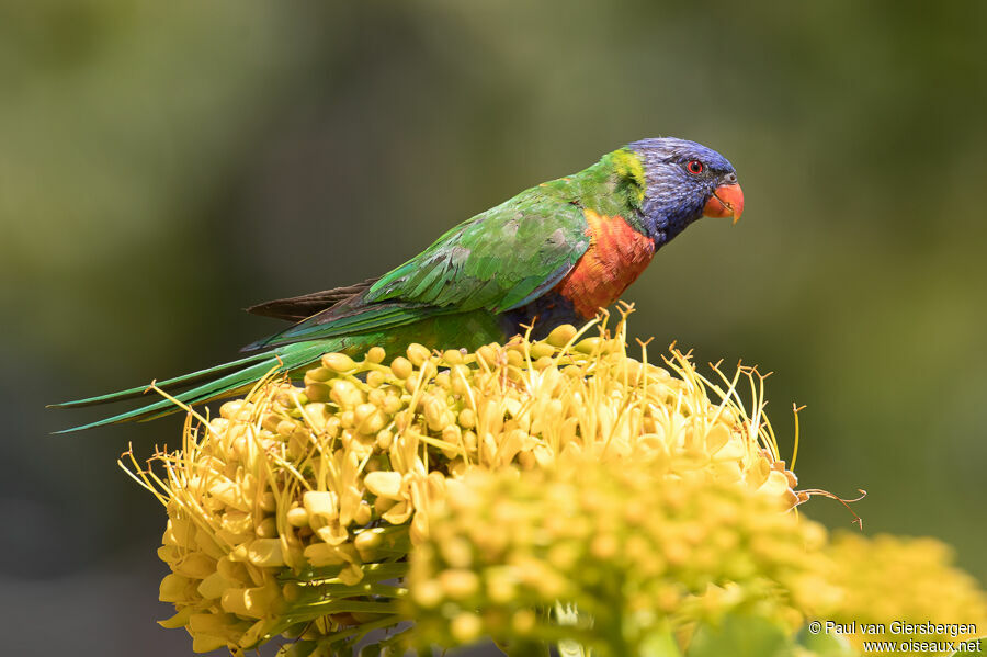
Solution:
[[(157, 502), (116, 466), (181, 420), (46, 403), (220, 362), (241, 308), (363, 280), (627, 141), (730, 158), (626, 298), (758, 363), (807, 487), (984, 581), (987, 3), (0, 3), (0, 626), (16, 655), (183, 655)], [(816, 499), (833, 528), (852, 517)]]

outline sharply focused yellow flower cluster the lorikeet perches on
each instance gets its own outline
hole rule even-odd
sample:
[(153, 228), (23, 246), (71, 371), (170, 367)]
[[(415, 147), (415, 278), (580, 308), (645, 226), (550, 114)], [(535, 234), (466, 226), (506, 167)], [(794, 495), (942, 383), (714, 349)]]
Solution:
[[(430, 510), (442, 508), (450, 487), (458, 496), (475, 472), (647, 463), (668, 496), (674, 488), (722, 494), (696, 503), (726, 525), (746, 498), (725, 486), (783, 508), (805, 498), (779, 458), (755, 371), (714, 383), (677, 351), (659, 367), (645, 348), (640, 361), (626, 354), (625, 321), (612, 335), (598, 327), (585, 337), (592, 325), (475, 353), (411, 344), (389, 363), (379, 348), (360, 361), (331, 353), (305, 374), (304, 389), (268, 381), (225, 404), (219, 417), (190, 414), (181, 450), (156, 454), (146, 468), (131, 456), (132, 474), (169, 516), (159, 555), (172, 574), (161, 600), (177, 614), (162, 624), (185, 627), (198, 652), (238, 653), (284, 634), (313, 655), (393, 627), (406, 618), (407, 590), (394, 581), (407, 571), (411, 545), (430, 541)], [(749, 411), (740, 382), (753, 393)], [(677, 550), (701, 563), (718, 558), (689, 548), (716, 528), (696, 518), (680, 529), (682, 536), (662, 543), (666, 559)], [(738, 536), (727, 530), (708, 539), (719, 545)], [(591, 548), (612, 550), (605, 542)], [(759, 563), (744, 558), (718, 573)], [(676, 571), (690, 573), (688, 565)], [(708, 574), (694, 578), (682, 586), (692, 591)]]

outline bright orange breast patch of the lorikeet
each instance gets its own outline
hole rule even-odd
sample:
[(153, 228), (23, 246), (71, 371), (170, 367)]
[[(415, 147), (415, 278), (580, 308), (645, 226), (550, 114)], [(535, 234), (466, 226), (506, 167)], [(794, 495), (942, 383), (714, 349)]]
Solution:
[(590, 318), (616, 299), (648, 267), (655, 242), (623, 217), (586, 211), (590, 248), (555, 291)]

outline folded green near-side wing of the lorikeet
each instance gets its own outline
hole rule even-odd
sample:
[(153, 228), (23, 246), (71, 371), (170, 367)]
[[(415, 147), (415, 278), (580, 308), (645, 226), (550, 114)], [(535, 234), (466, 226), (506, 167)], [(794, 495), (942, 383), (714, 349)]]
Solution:
[(532, 188), (460, 224), (353, 301), (250, 348), (523, 306), (554, 287), (589, 248), (586, 217), (565, 186)]

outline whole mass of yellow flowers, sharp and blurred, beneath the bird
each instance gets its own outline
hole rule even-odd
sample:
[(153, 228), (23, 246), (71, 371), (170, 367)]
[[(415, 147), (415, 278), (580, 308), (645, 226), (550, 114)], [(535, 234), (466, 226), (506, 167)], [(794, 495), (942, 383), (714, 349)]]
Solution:
[(814, 619), (855, 622), (858, 647), (866, 622), (898, 641), (968, 634), (893, 621), (987, 626), (940, 543), (830, 542), (787, 512), (808, 494), (755, 370), (711, 381), (674, 349), (656, 366), (646, 346), (627, 355), (625, 319), (597, 328), (330, 353), (304, 388), (268, 380), (190, 412), (180, 450), (128, 471), (169, 517), (162, 625), (235, 655), (282, 635), (292, 657), (350, 654), (374, 630), (386, 654), (490, 635), (511, 654), (706, 657), (736, 638), (717, 627), (809, 656), (837, 654), (798, 643)]

